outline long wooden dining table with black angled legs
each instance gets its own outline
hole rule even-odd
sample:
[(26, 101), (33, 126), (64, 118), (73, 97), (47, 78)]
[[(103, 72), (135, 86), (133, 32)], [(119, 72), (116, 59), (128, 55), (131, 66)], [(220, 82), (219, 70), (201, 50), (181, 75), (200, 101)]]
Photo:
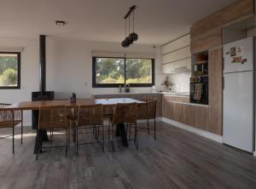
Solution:
[[(70, 100), (38, 100), (38, 101), (21, 101), (19, 103), (5, 106), (3, 109), (7, 110), (20, 110), (20, 111), (29, 111), (29, 110), (39, 110), (40, 108), (50, 108), (53, 106), (66, 106), (67, 108), (78, 108), (79, 106), (91, 106), (99, 105), (102, 106), (115, 106), (118, 103), (145, 103), (141, 100), (135, 100), (131, 98), (115, 98), (115, 99), (78, 99), (76, 102), (72, 103)], [(121, 123), (117, 126), (117, 132), (121, 138), (123, 146), (128, 146), (125, 125)], [(44, 140), (48, 140), (46, 131), (39, 131), (38, 140), (35, 142), (34, 152), (37, 152), (38, 149), (41, 150)]]

